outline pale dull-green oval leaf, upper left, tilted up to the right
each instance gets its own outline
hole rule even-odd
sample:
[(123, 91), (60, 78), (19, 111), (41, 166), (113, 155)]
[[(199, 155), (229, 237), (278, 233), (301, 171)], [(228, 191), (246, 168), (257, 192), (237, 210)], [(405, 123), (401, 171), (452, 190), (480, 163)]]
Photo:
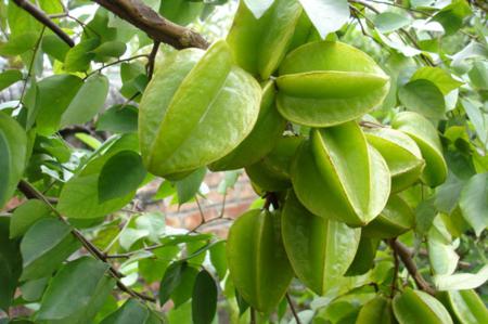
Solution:
[(108, 79), (101, 74), (88, 78), (61, 117), (61, 127), (91, 120), (105, 104)]

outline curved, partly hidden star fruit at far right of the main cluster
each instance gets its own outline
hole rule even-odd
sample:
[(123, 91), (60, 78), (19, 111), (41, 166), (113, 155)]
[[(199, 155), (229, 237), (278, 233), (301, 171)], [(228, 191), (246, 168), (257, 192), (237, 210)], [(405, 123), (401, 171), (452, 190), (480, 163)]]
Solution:
[(434, 125), (418, 113), (403, 112), (395, 116), (391, 127), (411, 137), (419, 145), (425, 159), (421, 180), (431, 186), (441, 184), (447, 177), (447, 165)]

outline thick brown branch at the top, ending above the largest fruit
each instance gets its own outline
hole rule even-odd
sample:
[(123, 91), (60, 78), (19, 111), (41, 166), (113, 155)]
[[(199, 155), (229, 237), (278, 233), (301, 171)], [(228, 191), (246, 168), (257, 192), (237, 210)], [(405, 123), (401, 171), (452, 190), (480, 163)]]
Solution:
[(145, 31), (155, 41), (170, 44), (176, 49), (208, 48), (208, 42), (202, 35), (169, 22), (145, 5), (141, 0), (92, 1)]

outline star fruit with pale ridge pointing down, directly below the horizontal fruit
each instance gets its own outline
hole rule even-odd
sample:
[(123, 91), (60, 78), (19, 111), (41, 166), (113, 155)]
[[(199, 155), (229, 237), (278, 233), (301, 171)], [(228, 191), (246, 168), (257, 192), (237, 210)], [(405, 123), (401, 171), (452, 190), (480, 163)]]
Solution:
[(311, 212), (363, 226), (385, 207), (388, 167), (355, 121), (314, 129), (292, 166), (298, 199)]

